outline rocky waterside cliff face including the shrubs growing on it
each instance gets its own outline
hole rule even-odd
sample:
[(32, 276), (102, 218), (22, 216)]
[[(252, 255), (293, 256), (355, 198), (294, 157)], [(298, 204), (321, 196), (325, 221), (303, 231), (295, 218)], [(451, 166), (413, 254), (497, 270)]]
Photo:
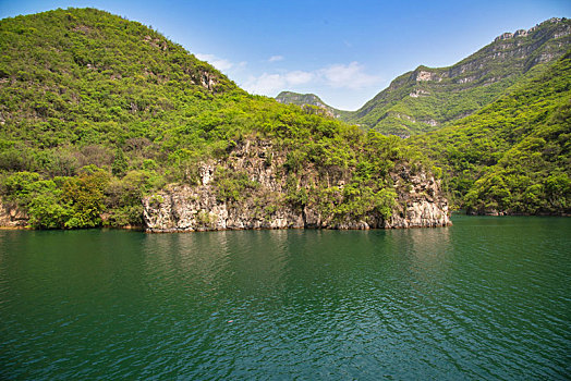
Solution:
[[(144, 198), (146, 229), (182, 232), (450, 224), (448, 201), (441, 195), (439, 182), (424, 172), (397, 167), (390, 173), (392, 184), (378, 192), (386, 196), (384, 207), (373, 201), (354, 205), (349, 201), (351, 195), (345, 187), (352, 169), (324, 170), (308, 163), (293, 173), (287, 160), (283, 148), (268, 142), (246, 140), (227, 159), (203, 163), (198, 184), (173, 185)], [(229, 177), (233, 179), (230, 183)], [(347, 209), (342, 208), (344, 205)]]

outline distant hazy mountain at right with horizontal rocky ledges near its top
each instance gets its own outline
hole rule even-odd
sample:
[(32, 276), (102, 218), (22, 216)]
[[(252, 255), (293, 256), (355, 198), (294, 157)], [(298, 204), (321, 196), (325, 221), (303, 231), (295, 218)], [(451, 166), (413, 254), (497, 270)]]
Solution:
[(418, 66), (402, 74), (343, 120), (400, 136), (435, 131), (489, 105), (570, 47), (571, 20), (550, 19), (505, 33), (452, 66)]

